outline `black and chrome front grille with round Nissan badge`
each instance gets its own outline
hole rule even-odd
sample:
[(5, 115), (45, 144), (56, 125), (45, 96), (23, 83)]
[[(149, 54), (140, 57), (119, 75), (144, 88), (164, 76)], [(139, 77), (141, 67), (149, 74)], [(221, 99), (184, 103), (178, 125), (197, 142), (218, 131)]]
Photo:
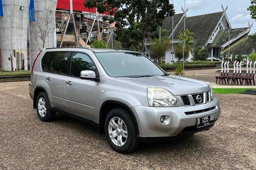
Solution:
[(185, 106), (199, 105), (210, 102), (210, 92), (187, 94), (180, 96)]

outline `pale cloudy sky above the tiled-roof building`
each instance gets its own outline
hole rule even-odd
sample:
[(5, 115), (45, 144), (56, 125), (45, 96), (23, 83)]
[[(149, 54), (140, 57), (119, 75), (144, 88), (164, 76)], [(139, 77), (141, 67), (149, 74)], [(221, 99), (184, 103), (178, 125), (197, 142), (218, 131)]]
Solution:
[[(186, 8), (188, 8), (187, 16), (202, 15), (222, 11), (221, 4), (226, 11), (227, 17), (232, 28), (248, 27), (253, 22), (250, 34), (256, 32), (256, 23), (251, 19), (250, 12), (247, 8), (250, 0), (185, 0)], [(173, 3), (173, 0), (170, 0)], [(184, 0), (174, 0), (174, 8), (176, 14), (182, 13), (181, 6), (184, 8)]]

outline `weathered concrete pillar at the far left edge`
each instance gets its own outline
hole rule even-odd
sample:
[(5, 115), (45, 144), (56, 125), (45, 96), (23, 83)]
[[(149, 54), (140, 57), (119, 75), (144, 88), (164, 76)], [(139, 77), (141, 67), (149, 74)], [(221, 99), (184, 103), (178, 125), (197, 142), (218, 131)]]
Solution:
[(25, 70), (28, 70), (27, 33), (28, 33), (28, 1), (2, 1), (4, 16), (0, 17), (0, 48), (2, 69), (16, 70), (14, 50), (24, 53)]

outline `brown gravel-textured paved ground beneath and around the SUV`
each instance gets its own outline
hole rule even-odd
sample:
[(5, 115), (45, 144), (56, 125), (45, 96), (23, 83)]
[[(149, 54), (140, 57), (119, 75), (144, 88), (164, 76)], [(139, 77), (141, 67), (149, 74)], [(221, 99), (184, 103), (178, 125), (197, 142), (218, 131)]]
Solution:
[(222, 114), (209, 131), (123, 155), (96, 127), (60, 114), (41, 122), (28, 82), (0, 83), (0, 169), (256, 169), (256, 96), (216, 96)]

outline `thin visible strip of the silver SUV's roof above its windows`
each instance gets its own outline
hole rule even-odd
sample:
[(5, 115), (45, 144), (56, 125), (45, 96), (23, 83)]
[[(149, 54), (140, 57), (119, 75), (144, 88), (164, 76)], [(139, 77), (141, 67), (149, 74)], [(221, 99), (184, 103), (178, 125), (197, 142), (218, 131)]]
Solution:
[[(45, 50), (52, 49), (87, 49), (92, 52), (136, 52), (132, 49), (111, 49), (111, 48), (87, 48), (87, 47), (55, 47), (55, 48), (46, 48)], [(137, 53), (137, 52), (136, 52)]]

